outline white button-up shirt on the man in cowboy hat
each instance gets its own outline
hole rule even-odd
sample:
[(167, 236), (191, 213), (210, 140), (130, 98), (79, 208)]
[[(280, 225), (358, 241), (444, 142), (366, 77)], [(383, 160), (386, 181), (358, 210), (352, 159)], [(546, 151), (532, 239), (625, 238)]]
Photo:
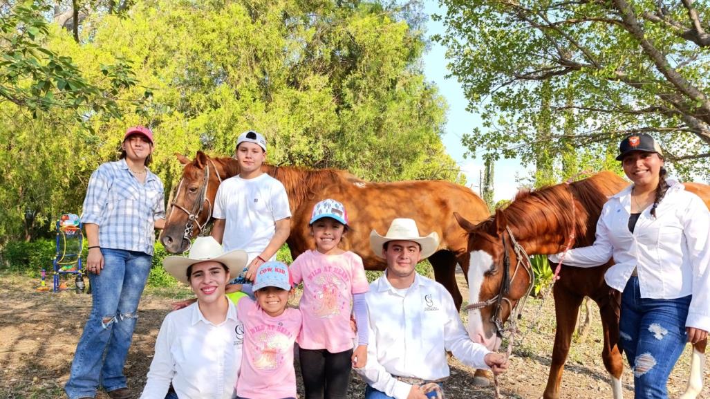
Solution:
[(443, 285), (417, 274), (402, 294), (383, 274), (365, 298), (370, 318), (367, 364), (355, 371), (372, 388), (406, 399), (412, 386), (394, 376), (425, 381), (448, 377), (446, 351), (464, 364), (488, 369), (488, 349), (469, 339)]

